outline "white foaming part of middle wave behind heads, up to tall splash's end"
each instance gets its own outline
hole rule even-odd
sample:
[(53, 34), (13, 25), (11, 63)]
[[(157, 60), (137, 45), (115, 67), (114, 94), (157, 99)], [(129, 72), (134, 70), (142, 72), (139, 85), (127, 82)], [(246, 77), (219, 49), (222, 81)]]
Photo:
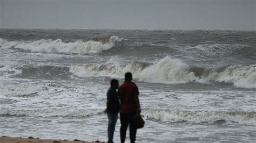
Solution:
[(192, 72), (188, 72), (188, 65), (170, 57), (161, 59), (151, 66), (135, 61), (127, 65), (120, 65), (110, 59), (104, 64), (73, 65), (70, 67), (70, 73), (80, 77), (109, 76), (122, 78), (128, 71), (133, 74), (134, 79), (145, 82), (176, 84), (190, 82), (196, 78)]

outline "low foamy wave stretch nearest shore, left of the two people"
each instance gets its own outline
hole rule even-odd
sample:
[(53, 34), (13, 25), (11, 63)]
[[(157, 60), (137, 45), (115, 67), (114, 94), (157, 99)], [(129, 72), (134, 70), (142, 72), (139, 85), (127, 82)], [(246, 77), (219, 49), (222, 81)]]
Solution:
[(24, 109), (0, 110), (0, 115), (33, 117), (85, 117), (103, 114), (103, 109)]

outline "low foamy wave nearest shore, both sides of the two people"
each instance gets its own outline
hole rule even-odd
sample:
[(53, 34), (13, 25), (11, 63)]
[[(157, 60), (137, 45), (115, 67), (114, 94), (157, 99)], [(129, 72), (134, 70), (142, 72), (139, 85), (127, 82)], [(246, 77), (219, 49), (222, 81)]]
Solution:
[[(76, 109), (76, 108), (48, 108), (48, 109), (19, 109), (0, 110), (2, 116), (32, 116), (32, 117), (91, 117), (103, 115), (103, 109)], [(148, 119), (155, 119), (163, 122), (183, 122), (191, 123), (214, 123), (225, 120), (238, 124), (256, 125), (256, 112), (243, 111), (179, 111), (179, 110), (159, 110), (144, 109), (142, 115)]]

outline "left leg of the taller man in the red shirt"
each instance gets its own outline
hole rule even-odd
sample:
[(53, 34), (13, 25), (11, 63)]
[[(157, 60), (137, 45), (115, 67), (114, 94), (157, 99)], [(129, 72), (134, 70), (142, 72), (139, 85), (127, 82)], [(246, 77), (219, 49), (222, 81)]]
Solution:
[(120, 122), (121, 122), (120, 137), (121, 137), (121, 142), (123, 143), (126, 137), (126, 130), (129, 122), (129, 115), (127, 115), (126, 113), (120, 113)]

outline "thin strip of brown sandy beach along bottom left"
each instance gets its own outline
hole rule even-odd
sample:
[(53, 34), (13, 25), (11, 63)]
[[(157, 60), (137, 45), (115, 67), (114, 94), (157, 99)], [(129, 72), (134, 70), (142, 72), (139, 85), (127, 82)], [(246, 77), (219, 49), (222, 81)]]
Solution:
[[(34, 139), (34, 138), (11, 138), (0, 137), (0, 143), (87, 143), (88, 141), (69, 141), (69, 140), (51, 140), (51, 139)], [(99, 141), (95, 141), (99, 142)]]

